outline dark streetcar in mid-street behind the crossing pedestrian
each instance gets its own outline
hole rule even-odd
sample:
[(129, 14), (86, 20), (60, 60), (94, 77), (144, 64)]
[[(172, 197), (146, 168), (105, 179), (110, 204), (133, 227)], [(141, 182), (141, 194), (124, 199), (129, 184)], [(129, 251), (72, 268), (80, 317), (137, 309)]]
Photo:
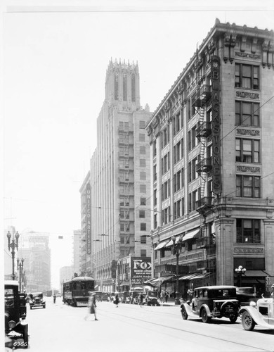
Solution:
[(88, 305), (89, 292), (94, 291), (95, 280), (92, 277), (77, 276), (63, 283), (63, 302), (74, 307)]

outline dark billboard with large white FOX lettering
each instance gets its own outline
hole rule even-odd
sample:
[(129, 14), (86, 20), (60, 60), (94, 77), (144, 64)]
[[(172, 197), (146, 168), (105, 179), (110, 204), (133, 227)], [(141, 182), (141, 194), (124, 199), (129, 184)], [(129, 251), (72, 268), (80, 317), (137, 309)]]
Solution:
[(131, 257), (131, 288), (142, 286), (148, 279), (151, 279), (151, 258)]

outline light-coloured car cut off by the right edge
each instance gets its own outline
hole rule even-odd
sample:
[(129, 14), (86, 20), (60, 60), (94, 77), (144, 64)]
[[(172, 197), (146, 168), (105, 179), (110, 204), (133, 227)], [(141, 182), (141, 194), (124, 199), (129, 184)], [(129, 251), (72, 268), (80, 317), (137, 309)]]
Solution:
[(240, 310), (242, 327), (244, 330), (253, 330), (255, 325), (274, 329), (274, 284), (271, 287), (270, 298), (259, 298), (256, 302), (250, 302)]

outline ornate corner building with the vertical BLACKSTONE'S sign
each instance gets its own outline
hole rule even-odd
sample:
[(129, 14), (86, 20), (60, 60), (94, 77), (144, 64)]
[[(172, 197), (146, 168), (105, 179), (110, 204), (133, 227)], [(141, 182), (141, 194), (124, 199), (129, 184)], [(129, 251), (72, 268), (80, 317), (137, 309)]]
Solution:
[(273, 44), (216, 20), (146, 127), (154, 271), (173, 287), (178, 250), (184, 295), (274, 276)]

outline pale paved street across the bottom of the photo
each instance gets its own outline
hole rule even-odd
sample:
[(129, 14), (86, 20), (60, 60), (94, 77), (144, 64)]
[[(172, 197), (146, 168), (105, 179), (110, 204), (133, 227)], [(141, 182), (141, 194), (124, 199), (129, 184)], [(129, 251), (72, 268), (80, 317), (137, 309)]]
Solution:
[[(27, 305), (30, 352), (167, 352), (167, 351), (273, 351), (274, 331), (242, 329), (229, 320), (183, 320), (178, 306), (147, 307), (98, 302), (98, 322), (85, 321), (87, 308), (53, 304), (30, 310)], [(24, 351), (18, 349), (18, 351)]]

